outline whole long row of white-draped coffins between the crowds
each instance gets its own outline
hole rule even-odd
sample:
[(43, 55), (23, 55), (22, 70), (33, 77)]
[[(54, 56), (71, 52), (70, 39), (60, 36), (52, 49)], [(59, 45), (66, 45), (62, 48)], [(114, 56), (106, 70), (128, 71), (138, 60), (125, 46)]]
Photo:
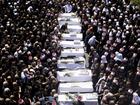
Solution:
[(68, 23), (68, 33), (61, 33), (59, 42), (62, 51), (57, 63), (57, 79), (60, 81), (58, 102), (60, 105), (72, 105), (73, 99), (81, 96), (85, 105), (97, 105), (92, 73), (86, 69), (80, 19), (74, 13), (63, 13), (58, 21), (60, 27)]

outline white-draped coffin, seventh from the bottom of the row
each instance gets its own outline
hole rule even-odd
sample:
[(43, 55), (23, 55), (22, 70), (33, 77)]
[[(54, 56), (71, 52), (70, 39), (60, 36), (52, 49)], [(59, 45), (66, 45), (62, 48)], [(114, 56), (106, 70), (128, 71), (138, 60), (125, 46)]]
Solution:
[(69, 33), (69, 34), (62, 34), (63, 40), (82, 40), (83, 35), (81, 33)]

